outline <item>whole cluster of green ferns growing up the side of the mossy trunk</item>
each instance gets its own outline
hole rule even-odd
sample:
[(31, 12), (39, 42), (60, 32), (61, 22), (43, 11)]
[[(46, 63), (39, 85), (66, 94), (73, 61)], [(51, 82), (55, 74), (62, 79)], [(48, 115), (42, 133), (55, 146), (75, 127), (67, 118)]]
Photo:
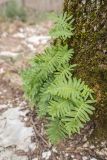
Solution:
[[(54, 18), (52, 37), (64, 41), (70, 38), (73, 35), (72, 17), (65, 13)], [(74, 51), (64, 44), (57, 42), (35, 56), (22, 75), (27, 98), (37, 106), (38, 115), (49, 120), (47, 134), (52, 143), (80, 132), (90, 120), (95, 102), (92, 89), (74, 77), (76, 65), (69, 64)]]

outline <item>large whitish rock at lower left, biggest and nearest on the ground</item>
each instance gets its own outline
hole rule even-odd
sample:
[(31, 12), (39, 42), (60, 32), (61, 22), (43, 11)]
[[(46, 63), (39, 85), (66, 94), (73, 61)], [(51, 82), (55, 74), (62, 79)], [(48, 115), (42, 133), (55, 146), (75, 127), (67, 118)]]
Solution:
[[(24, 112), (24, 111), (23, 111)], [(0, 146), (16, 146), (16, 149), (29, 151), (34, 150), (35, 144), (31, 142), (33, 128), (25, 127), (21, 122), (20, 115), (22, 111), (17, 108), (9, 108), (0, 117)]]

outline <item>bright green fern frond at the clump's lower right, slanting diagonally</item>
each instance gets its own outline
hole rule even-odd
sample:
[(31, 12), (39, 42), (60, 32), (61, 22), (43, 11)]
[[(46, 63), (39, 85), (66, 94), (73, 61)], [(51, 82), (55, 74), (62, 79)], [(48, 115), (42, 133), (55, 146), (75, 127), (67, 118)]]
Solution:
[[(93, 100), (90, 100), (90, 102), (93, 103)], [(69, 135), (79, 132), (83, 128), (84, 123), (90, 120), (89, 115), (93, 114), (93, 110), (94, 107), (89, 105), (87, 101), (84, 102), (82, 99), (76, 101), (76, 106), (68, 114), (69, 117), (63, 119)]]

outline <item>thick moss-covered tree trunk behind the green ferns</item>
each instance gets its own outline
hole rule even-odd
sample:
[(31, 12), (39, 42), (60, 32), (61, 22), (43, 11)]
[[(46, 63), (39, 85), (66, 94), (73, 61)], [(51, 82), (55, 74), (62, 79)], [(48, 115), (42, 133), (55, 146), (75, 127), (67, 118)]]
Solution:
[(65, 0), (64, 12), (73, 15), (75, 75), (95, 92), (94, 135), (107, 138), (107, 0)]

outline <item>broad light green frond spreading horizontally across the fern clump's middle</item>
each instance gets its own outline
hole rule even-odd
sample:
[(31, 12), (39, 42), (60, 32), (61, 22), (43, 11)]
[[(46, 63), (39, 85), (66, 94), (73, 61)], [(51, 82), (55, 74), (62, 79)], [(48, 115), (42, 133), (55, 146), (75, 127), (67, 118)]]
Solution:
[(65, 99), (75, 99), (80, 98), (81, 92), (83, 91), (84, 82), (81, 82), (81, 79), (77, 80), (76, 78), (66, 78), (54, 82), (47, 90), (52, 95), (58, 95)]

